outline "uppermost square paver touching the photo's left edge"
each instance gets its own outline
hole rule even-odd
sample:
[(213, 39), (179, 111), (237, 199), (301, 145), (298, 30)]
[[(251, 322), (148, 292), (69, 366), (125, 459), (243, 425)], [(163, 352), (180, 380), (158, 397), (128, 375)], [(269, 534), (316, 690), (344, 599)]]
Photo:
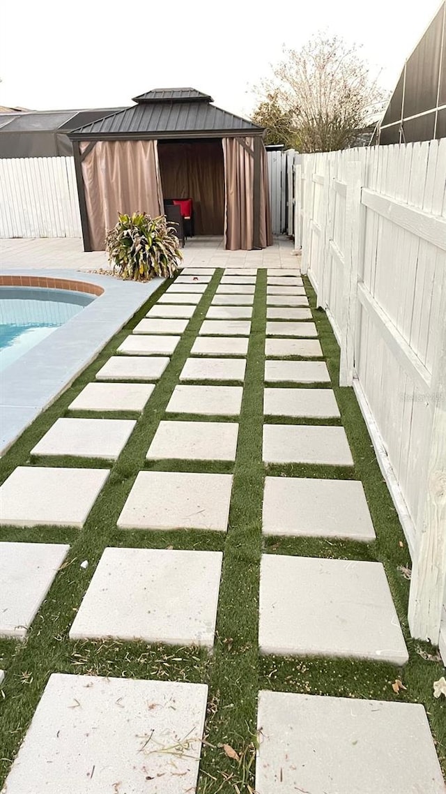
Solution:
[(0, 486), (0, 525), (81, 529), (109, 474), (108, 468), (17, 466)]

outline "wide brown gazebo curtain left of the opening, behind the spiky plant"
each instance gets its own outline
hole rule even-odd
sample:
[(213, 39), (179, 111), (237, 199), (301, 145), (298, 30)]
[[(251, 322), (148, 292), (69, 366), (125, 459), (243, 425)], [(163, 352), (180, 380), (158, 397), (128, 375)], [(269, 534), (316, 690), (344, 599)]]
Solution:
[[(81, 143), (81, 154), (88, 143)], [(118, 213), (163, 212), (156, 141), (97, 141), (82, 163), (90, 244), (105, 249)]]

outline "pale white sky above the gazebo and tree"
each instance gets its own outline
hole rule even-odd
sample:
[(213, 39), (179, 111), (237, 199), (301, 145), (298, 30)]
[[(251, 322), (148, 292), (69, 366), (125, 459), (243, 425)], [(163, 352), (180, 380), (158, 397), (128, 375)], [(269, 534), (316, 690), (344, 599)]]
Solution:
[[(363, 44), (392, 90), (439, 0), (0, 0), (0, 105), (35, 110), (131, 104), (191, 86), (249, 114), (252, 86), (283, 44), (320, 29)], [(264, 8), (264, 11), (262, 11)]]

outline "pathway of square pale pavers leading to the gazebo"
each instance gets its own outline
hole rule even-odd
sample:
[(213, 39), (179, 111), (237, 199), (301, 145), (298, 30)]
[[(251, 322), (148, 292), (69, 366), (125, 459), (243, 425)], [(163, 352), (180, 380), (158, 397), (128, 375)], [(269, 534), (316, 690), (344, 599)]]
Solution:
[[(68, 416), (58, 418), (34, 445), (31, 463), (41, 465), (17, 468), (0, 488), (1, 521), (7, 526), (71, 526), (100, 535), (98, 523), (82, 530), (95, 501), (102, 490), (111, 493), (120, 478), (124, 483), (131, 478), (112, 542), (99, 542), (102, 553), (93, 560), (90, 584), (71, 607), (71, 641), (182, 646), (174, 654), (201, 646), (210, 652), (210, 681), (218, 684), (218, 675), (225, 679), (218, 670), (229, 659), (221, 643), (230, 652), (235, 642), (225, 635), (232, 577), (238, 582), (232, 597), (239, 611), (229, 622), (243, 626), (255, 615), (253, 634), (258, 630), (261, 654), (406, 663), (380, 562), (351, 555), (304, 557), (286, 547), (275, 553), (265, 546), (258, 565), (256, 549), (269, 535), (343, 538), (347, 544), (375, 538), (322, 353), (296, 271), (277, 276), (256, 268), (202, 268), (198, 275), (189, 267), (163, 291), (98, 369), (96, 380), (71, 401)], [(164, 393), (172, 368), (175, 383)], [(163, 402), (153, 403), (161, 393)], [(263, 411), (263, 439), (261, 419), (249, 417), (248, 404), (256, 404), (260, 416)], [(73, 416), (76, 411), (88, 411), (89, 418)], [(110, 411), (117, 417), (107, 418)], [(134, 439), (139, 439), (139, 471), (129, 475), (131, 461), (127, 471), (119, 466), (126, 445), (136, 449)], [(248, 466), (249, 442), (256, 471), (262, 472), (256, 482), (244, 480), (240, 469)], [(58, 467), (52, 457), (62, 455), (98, 459), (97, 468)], [(112, 465), (117, 470), (109, 486)], [(262, 511), (256, 494), (263, 486)], [(247, 505), (249, 515), (262, 516), (262, 537), (255, 520), (254, 530), (240, 526), (237, 517)], [(237, 536), (245, 531), (254, 533), (252, 549), (245, 545), (237, 554)], [(31, 630), (33, 641), (38, 620), (33, 623), (33, 617), (57, 581), (69, 545), (35, 544), (40, 556), (29, 566), (34, 545), (23, 533), (24, 542), (1, 544), (0, 593), (4, 588), (7, 608), (0, 608), (0, 637), (24, 638)], [(167, 548), (165, 533), (175, 538)], [(244, 572), (248, 580), (254, 569), (250, 581), (257, 581), (257, 592), (251, 584), (244, 592)], [(68, 642), (66, 636), (62, 642)], [(207, 758), (221, 747), (212, 749), (208, 742), (213, 720), (223, 719), (223, 709), (230, 715), (244, 698), (248, 702), (243, 687), (251, 693), (258, 689), (254, 678), (249, 684), (237, 678), (237, 668), (249, 671), (257, 653), (256, 641), (240, 648), (230, 674), (233, 701), (225, 705), (215, 691), (209, 700), (201, 678), (184, 683), (190, 675), (186, 668), (163, 682), (144, 674), (126, 680), (125, 662), (121, 678), (48, 670), (53, 674), (40, 689), (3, 791), (194, 792), (200, 755)], [(243, 716), (237, 724), (237, 730), (246, 730), (248, 722)], [(445, 792), (420, 705), (262, 691), (258, 727), (258, 794)], [(228, 754), (230, 748), (226, 760)], [(252, 792), (249, 773), (244, 780), (244, 765), (241, 769), (218, 777), (216, 767), (205, 764), (200, 792)]]

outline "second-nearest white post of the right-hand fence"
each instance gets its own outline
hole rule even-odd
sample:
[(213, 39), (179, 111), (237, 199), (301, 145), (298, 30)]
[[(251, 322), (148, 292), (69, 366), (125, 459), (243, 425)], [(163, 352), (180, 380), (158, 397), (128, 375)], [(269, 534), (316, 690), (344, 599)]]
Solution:
[(340, 325), (339, 385), (352, 386), (355, 364), (356, 311), (359, 258), (362, 253), (363, 165), (358, 160), (347, 164), (347, 196), (345, 199), (345, 252), (342, 318)]

